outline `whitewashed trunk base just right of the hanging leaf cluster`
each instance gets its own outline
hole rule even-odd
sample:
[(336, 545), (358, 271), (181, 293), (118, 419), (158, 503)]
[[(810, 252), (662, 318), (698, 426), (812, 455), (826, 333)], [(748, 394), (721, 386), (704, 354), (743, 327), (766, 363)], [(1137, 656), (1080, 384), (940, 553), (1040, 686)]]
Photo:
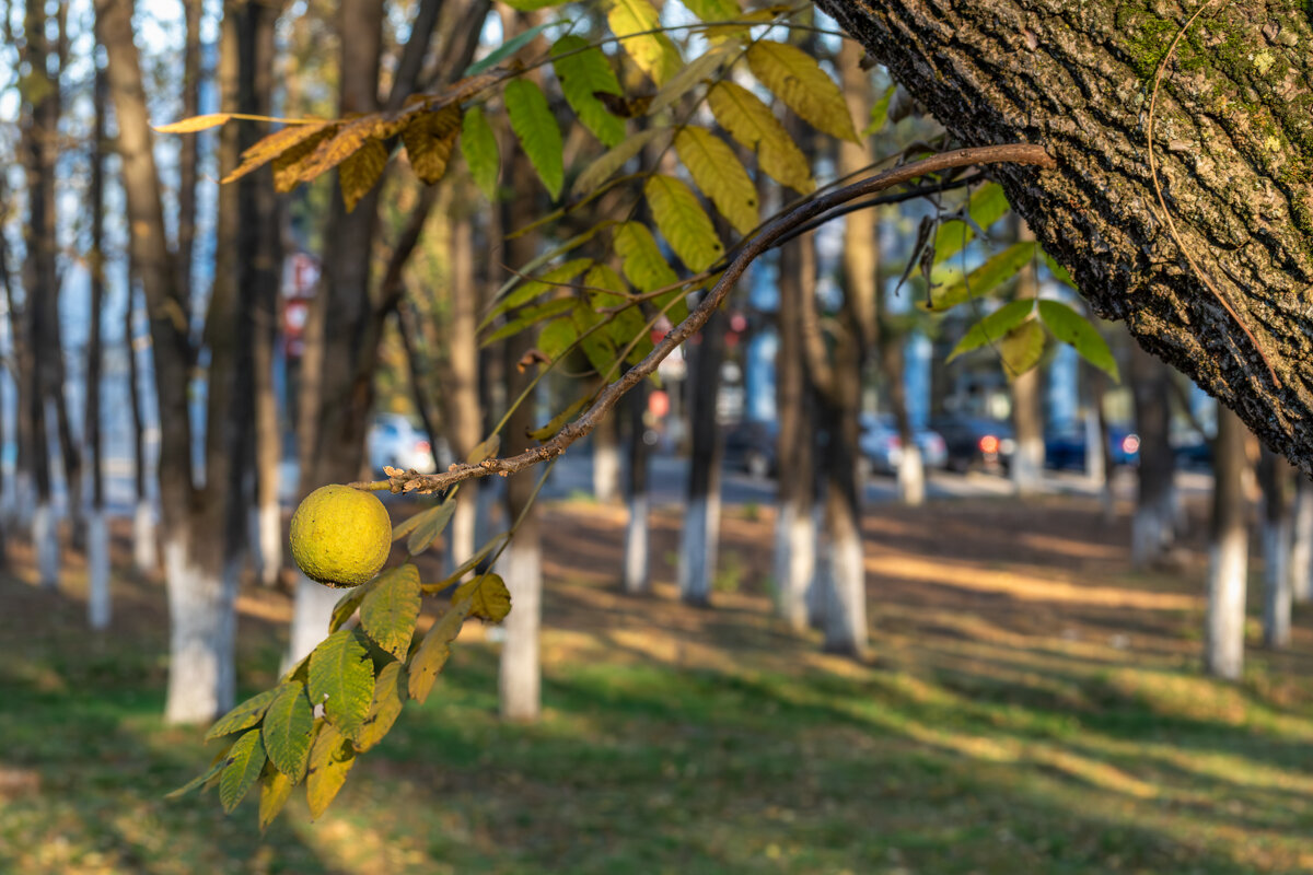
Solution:
[(542, 555), (537, 540), (512, 539), (498, 561), (498, 573), (511, 590), (506, 639), (498, 669), (502, 719), (532, 722), (542, 710), (542, 668), (538, 626), (542, 615)]

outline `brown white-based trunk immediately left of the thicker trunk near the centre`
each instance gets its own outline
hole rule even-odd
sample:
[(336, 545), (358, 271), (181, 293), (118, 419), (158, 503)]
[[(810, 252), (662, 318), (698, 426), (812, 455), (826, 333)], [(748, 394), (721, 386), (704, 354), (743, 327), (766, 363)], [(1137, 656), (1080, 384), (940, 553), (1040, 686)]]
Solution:
[(815, 576), (815, 413), (802, 352), (802, 308), (815, 300), (815, 236), (780, 249), (780, 345), (775, 353), (777, 487), (775, 523), (776, 610), (789, 627), (807, 628), (807, 589)]

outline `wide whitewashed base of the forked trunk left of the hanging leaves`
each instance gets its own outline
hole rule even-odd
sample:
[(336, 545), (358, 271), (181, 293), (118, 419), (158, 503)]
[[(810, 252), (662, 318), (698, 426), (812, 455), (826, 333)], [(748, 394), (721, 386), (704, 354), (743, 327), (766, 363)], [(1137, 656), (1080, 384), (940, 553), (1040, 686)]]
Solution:
[(222, 569), (201, 568), (181, 540), (165, 542), (169, 606), (167, 723), (206, 723), (232, 707), (234, 639), (240, 558)]

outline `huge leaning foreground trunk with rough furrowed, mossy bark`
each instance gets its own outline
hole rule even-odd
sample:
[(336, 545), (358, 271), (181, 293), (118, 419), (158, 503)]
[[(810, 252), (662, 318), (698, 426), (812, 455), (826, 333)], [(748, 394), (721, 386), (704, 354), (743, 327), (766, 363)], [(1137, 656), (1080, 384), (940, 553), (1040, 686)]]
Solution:
[[(1313, 282), (1313, 193), (1301, 169), (1313, 134), (1297, 84), (1313, 72), (1313, 21), (1301, 5), (1220, 4), (1169, 64), (1154, 148), (1180, 244), (1153, 189), (1144, 96), (1197, 4), (818, 5), (961, 142), (1046, 146), (1057, 169), (997, 171), (1044, 248), (1102, 316), (1127, 320), (1141, 345), (1313, 472), (1304, 294)], [(1280, 387), (1200, 273), (1254, 332)]]

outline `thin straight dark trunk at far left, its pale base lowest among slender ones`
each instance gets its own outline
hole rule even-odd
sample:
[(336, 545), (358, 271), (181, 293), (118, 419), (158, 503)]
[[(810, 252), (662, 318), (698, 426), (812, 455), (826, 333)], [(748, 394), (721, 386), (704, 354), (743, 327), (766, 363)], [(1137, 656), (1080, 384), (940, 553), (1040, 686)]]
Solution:
[(91, 454), (91, 514), (87, 521), (87, 619), (92, 628), (108, 628), (109, 531), (105, 526), (105, 476), (100, 438), (101, 323), (105, 308), (105, 77), (96, 70), (95, 113), (91, 148), (91, 333), (87, 341), (87, 413), (83, 430)]

